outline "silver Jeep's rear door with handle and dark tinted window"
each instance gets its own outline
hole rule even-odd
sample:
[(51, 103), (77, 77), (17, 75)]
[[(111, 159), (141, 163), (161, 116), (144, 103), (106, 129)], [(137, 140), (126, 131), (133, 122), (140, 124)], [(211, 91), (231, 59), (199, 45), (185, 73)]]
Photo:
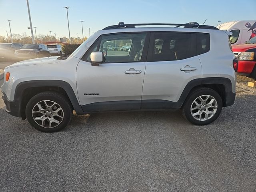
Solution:
[(202, 78), (197, 54), (210, 49), (209, 34), (202, 35), (191, 32), (151, 34), (142, 109), (172, 108), (172, 102), (178, 102), (188, 82)]

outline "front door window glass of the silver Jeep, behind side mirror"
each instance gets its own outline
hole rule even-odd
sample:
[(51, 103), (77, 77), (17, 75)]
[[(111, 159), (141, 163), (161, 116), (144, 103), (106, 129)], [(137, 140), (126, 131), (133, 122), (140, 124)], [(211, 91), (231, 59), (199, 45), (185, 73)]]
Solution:
[(95, 51), (103, 52), (104, 63), (139, 62), (146, 33), (124, 33), (104, 35), (86, 52), (84, 60), (91, 62), (90, 54)]

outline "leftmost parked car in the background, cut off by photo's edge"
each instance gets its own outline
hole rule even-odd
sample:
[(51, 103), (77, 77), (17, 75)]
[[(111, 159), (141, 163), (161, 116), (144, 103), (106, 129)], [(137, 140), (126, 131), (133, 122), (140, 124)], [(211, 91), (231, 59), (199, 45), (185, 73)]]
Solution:
[(13, 58), (15, 50), (22, 46), (23, 44), (20, 43), (0, 43), (0, 57)]

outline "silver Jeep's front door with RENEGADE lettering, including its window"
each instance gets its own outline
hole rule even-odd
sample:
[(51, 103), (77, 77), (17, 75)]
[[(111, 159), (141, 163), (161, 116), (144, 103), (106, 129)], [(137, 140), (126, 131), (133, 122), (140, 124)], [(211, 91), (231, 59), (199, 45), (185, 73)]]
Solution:
[[(84, 112), (140, 109), (148, 41), (146, 32), (107, 34), (96, 40), (77, 66)], [(130, 50), (120, 50), (124, 45), (131, 46)], [(91, 65), (90, 54), (95, 51), (104, 53), (99, 66)]]

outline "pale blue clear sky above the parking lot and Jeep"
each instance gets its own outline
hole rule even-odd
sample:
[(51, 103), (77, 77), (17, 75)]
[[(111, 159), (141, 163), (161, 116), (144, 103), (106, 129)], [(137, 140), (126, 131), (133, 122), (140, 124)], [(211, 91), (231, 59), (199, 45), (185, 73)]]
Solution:
[[(29, 0), (32, 26), (37, 35), (57, 38), (82, 38), (80, 20), (84, 20), (84, 36), (123, 21), (124, 23), (187, 23), (216, 26), (233, 20), (256, 20), (256, 0)], [(0, 35), (6, 36), (10, 19), (12, 34), (26, 32), (30, 26), (26, 0), (0, 0)]]

